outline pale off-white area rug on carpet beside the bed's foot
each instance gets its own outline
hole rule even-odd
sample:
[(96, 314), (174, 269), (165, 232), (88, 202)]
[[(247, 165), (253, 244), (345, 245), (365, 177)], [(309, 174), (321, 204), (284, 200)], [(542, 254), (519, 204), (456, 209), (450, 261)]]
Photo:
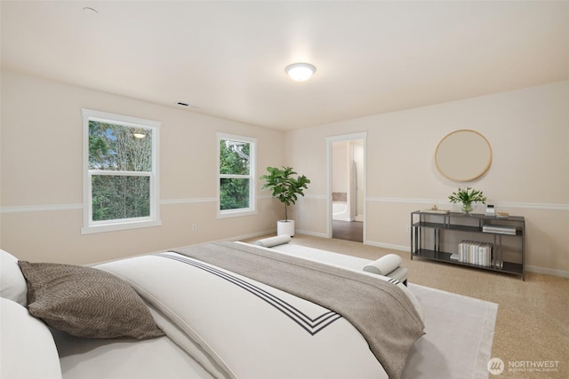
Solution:
[(425, 314), (403, 379), (488, 378), (498, 304), (409, 283)]

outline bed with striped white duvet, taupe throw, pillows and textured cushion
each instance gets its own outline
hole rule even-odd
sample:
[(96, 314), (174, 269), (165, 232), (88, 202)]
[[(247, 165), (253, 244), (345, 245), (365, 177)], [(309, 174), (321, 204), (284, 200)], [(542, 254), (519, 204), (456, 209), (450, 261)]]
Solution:
[[(217, 242), (83, 267), (22, 263), (3, 251), (0, 376), (399, 377), (423, 334), (420, 304), (402, 282), (354, 268), (361, 261), (350, 268), (323, 257)], [(68, 287), (53, 296), (61, 270)], [(110, 287), (99, 291), (101, 283)], [(74, 301), (76, 292), (87, 300)], [(101, 297), (79, 325), (67, 325), (76, 315), (31, 315), (44, 312), (36, 304), (65, 313)], [(137, 312), (149, 320), (130, 320)], [(116, 336), (112, 318), (128, 324), (111, 325)]]

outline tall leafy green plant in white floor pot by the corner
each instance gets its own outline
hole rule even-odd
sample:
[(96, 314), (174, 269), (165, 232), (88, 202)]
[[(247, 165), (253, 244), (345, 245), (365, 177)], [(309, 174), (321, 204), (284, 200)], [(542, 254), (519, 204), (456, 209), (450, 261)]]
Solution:
[[(294, 220), (288, 219), (288, 207), (295, 204), (298, 195), (304, 196), (303, 190), (309, 188), (310, 179), (304, 175), (298, 175), (291, 167), (267, 168), (268, 174), (261, 175), (260, 180), (266, 180), (261, 189), (269, 188), (272, 196), (284, 204), (284, 220), (276, 223), (276, 234), (294, 235)], [(296, 176), (296, 177), (294, 177)]]

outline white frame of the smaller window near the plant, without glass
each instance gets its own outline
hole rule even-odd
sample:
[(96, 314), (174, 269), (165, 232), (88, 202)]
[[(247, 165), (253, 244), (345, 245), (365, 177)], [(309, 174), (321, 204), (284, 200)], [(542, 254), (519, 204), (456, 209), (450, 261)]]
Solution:
[[(228, 139), (237, 142), (244, 142), (250, 145), (249, 148), (249, 175), (227, 175), (220, 174), (220, 142), (222, 139)], [(217, 217), (243, 217), (257, 214), (257, 138), (236, 136), (233, 134), (217, 133)], [(240, 209), (224, 209), (221, 210), (221, 178), (244, 178), (249, 179), (249, 207)]]

